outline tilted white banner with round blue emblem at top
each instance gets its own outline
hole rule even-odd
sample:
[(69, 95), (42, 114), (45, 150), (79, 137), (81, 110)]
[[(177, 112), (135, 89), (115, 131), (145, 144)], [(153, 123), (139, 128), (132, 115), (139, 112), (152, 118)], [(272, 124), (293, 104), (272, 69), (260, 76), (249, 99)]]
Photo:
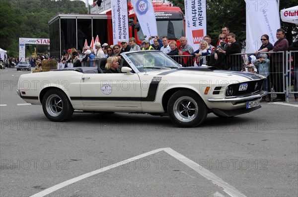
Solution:
[(157, 25), (151, 0), (131, 0), (144, 36), (157, 36)]

